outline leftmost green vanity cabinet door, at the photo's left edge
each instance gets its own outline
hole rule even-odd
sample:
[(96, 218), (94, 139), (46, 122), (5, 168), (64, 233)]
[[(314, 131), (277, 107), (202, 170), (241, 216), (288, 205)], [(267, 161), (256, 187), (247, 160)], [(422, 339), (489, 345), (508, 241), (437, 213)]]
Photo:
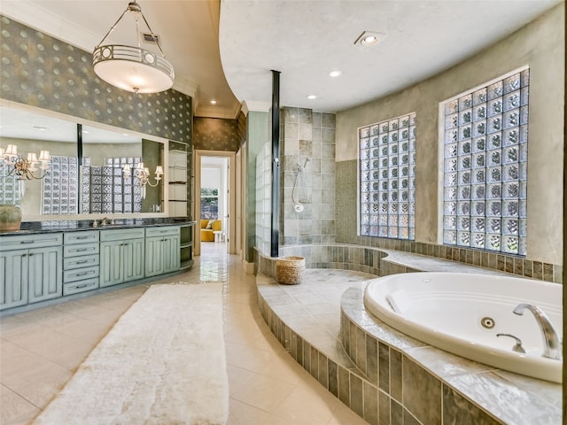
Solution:
[(27, 304), (27, 250), (0, 252), (0, 310)]

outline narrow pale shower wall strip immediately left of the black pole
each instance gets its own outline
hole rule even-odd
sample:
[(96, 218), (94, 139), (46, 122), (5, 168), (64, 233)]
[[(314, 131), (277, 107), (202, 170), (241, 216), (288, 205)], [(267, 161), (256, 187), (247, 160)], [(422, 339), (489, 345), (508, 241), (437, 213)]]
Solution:
[(265, 143), (256, 157), (256, 247), (270, 255), (272, 208), (272, 147)]

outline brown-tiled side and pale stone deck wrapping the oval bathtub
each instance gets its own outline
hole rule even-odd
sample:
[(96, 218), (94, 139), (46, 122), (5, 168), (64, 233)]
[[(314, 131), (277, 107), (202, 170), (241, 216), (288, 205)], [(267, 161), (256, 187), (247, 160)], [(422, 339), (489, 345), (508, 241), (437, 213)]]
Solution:
[[(356, 366), (377, 385), (380, 406), (389, 403), (391, 412), (403, 410), (403, 423), (410, 415), (417, 421), (409, 423), (423, 425), (561, 423), (561, 384), (425, 345), (370, 316), (362, 298), (363, 290), (351, 288), (341, 299), (341, 341)], [(396, 422), (392, 418), (384, 423)]]

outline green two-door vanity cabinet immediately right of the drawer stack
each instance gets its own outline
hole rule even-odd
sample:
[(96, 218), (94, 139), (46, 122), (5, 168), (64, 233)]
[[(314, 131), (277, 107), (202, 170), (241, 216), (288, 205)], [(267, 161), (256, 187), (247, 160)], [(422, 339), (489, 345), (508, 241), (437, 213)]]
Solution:
[(100, 287), (144, 279), (144, 228), (100, 231)]

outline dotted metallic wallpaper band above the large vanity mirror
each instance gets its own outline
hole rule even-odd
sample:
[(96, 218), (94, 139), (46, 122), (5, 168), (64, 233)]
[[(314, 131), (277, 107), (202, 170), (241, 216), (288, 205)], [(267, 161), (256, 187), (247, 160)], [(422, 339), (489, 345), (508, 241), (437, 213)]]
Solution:
[(192, 142), (192, 99), (130, 93), (100, 80), (92, 54), (0, 15), (0, 97), (85, 120)]

